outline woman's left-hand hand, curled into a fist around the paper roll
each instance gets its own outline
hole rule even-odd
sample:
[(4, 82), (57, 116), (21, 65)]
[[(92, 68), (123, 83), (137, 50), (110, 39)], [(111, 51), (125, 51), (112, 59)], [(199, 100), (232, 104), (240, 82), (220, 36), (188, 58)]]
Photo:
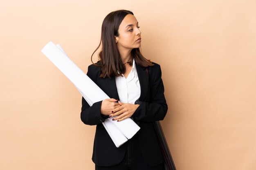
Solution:
[(118, 108), (120, 105), (117, 102), (117, 99), (105, 99), (101, 103), (101, 114), (110, 115), (112, 110)]

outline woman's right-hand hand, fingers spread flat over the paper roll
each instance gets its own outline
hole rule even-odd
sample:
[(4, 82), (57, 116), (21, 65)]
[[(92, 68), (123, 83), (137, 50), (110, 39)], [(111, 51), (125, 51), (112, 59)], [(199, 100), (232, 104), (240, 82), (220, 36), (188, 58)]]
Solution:
[(118, 101), (119, 107), (112, 110), (112, 114), (109, 115), (109, 117), (114, 117), (112, 120), (122, 121), (124, 119), (127, 119), (133, 115), (135, 110), (139, 107), (139, 104), (130, 104), (130, 103), (122, 103)]

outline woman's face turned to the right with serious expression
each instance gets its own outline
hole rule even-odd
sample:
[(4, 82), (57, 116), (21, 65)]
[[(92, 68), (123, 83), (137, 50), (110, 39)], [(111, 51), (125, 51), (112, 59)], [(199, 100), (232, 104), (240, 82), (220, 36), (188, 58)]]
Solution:
[(135, 49), (141, 46), (141, 31), (139, 31), (138, 21), (134, 15), (128, 14), (124, 17), (119, 25), (118, 33), (119, 36), (115, 36), (115, 39), (119, 50)]

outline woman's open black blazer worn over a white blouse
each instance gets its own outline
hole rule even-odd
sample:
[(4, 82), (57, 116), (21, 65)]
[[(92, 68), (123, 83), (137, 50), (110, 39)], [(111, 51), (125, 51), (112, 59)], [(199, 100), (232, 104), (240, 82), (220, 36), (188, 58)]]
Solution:
[[(142, 155), (150, 166), (156, 166), (163, 162), (162, 151), (153, 126), (153, 121), (163, 120), (168, 109), (164, 97), (161, 68), (159, 64), (153, 64), (154, 66), (148, 66), (147, 69), (136, 64), (141, 95), (137, 100), (140, 105), (132, 115), (134, 121), (140, 127), (137, 134)], [(115, 77), (99, 78), (100, 74), (100, 66), (94, 66), (93, 64), (88, 66), (88, 77), (90, 77), (90, 79), (92, 79), (110, 98), (119, 100)], [(101, 115), (101, 102), (102, 101), (96, 102), (90, 107), (82, 97), (81, 120), (84, 124), (97, 125), (92, 161), (97, 166), (113, 166), (123, 160), (127, 142), (119, 148), (115, 146), (102, 124), (108, 116)]]

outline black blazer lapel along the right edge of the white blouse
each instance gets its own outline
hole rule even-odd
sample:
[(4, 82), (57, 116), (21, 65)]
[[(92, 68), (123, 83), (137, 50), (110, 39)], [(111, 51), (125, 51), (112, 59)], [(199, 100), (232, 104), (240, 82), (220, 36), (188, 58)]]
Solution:
[(148, 91), (148, 73), (145, 70), (146, 67), (141, 67), (138, 64), (136, 64), (137, 74), (139, 78), (139, 84), (140, 84), (140, 97), (139, 101), (145, 101), (146, 95)]

